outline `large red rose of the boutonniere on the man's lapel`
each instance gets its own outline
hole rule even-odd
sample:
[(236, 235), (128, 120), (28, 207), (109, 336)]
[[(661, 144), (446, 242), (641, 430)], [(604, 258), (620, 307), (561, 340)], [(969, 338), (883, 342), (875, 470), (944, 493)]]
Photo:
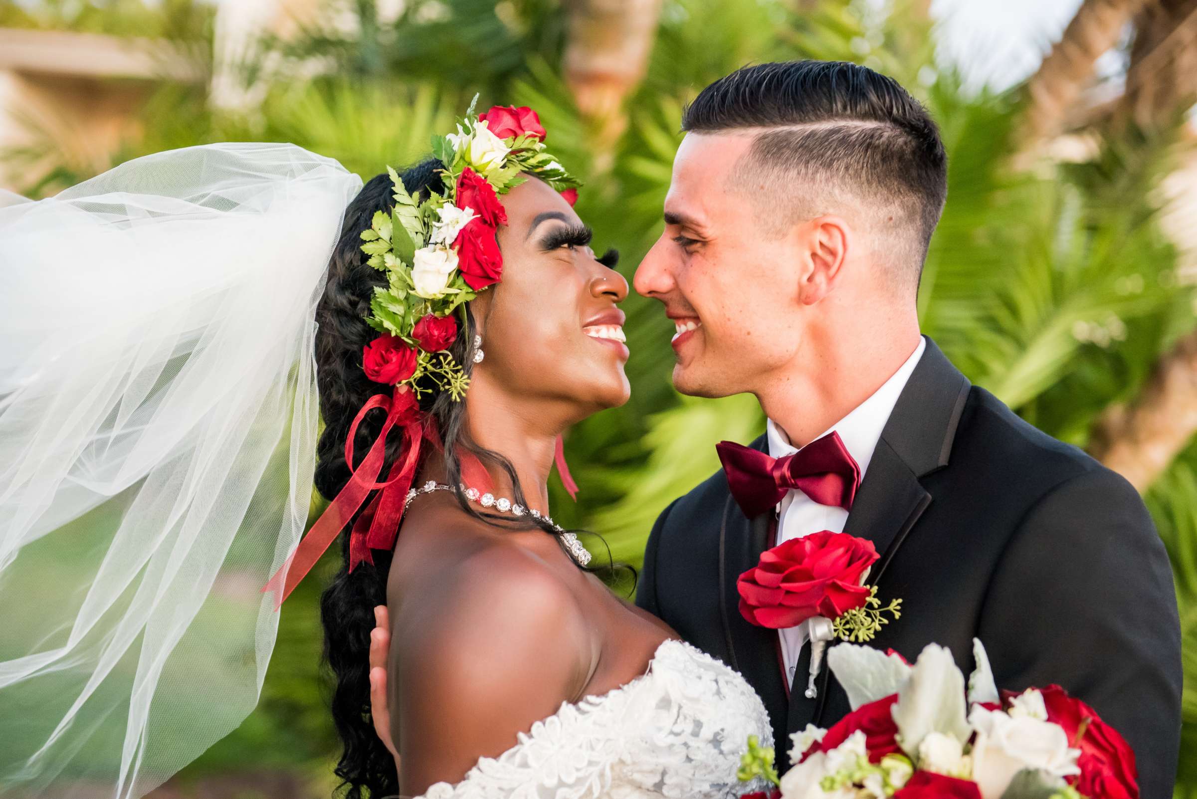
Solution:
[(753, 624), (780, 629), (812, 616), (837, 618), (863, 608), (861, 575), (877, 560), (871, 541), (824, 530), (767, 549), (740, 575), (740, 612)]

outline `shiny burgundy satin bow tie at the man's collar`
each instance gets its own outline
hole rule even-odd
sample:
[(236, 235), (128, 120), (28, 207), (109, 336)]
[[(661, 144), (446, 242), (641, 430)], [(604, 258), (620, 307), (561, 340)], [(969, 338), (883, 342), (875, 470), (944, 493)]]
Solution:
[(749, 519), (780, 502), (791, 488), (820, 505), (850, 511), (861, 487), (861, 466), (834, 431), (782, 458), (733, 441), (719, 441), (715, 449), (731, 495)]

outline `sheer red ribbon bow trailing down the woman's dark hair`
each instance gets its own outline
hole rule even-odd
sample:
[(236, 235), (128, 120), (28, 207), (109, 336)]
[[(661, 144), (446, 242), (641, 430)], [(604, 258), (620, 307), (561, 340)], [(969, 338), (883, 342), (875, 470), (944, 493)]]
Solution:
[[(353, 469), (353, 439), (357, 435), (358, 425), (366, 413), (375, 408), (385, 410), (387, 420), (383, 422), (378, 438), (366, 452), (366, 457), (353, 470), (345, 488), (316, 519), (316, 524), (311, 526), (304, 539), (299, 542), (299, 547), (287, 557), (286, 563), (262, 586), (262, 593), (274, 591), (275, 610), (291, 596), (299, 580), (306, 577), (372, 490), (382, 489), (382, 493), (375, 498), (353, 525), (350, 539), (350, 571), (352, 572), (363, 560), (373, 562), (370, 556), (371, 547), (389, 549), (395, 543), (395, 536), (399, 533), (399, 520), (403, 514), (403, 499), (419, 465), (420, 443), (425, 435), (436, 435), (436, 432), (423, 422), (423, 414), (420, 414), (419, 405), (415, 404), (415, 397), (407, 386), (396, 386), (390, 397), (376, 394), (366, 399), (350, 426), (350, 434), (345, 440), (345, 462), (350, 464), (351, 469)], [(403, 438), (407, 440), (407, 457), (396, 461), (387, 475), (387, 481), (379, 483), (376, 481), (387, 455), (387, 434), (396, 425), (402, 428)]]

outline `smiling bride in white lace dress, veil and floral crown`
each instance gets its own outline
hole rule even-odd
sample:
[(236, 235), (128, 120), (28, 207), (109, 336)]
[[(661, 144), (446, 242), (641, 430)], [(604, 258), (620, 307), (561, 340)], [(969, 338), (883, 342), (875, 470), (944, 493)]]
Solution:
[[(350, 797), (762, 787), (735, 775), (771, 743), (752, 688), (549, 516), (560, 435), (627, 401), (628, 350), (627, 283), (545, 138), (494, 106), (364, 187), (212, 145), (0, 202), (0, 795), (140, 797), (226, 734), (336, 537)], [(369, 716), (377, 604), (397, 761)]]

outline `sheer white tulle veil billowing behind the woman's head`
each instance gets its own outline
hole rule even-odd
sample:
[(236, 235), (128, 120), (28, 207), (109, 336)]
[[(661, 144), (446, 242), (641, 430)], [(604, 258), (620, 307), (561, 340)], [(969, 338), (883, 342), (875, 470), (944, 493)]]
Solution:
[(0, 795), (135, 799), (256, 705), (360, 187), (224, 144), (0, 196)]

